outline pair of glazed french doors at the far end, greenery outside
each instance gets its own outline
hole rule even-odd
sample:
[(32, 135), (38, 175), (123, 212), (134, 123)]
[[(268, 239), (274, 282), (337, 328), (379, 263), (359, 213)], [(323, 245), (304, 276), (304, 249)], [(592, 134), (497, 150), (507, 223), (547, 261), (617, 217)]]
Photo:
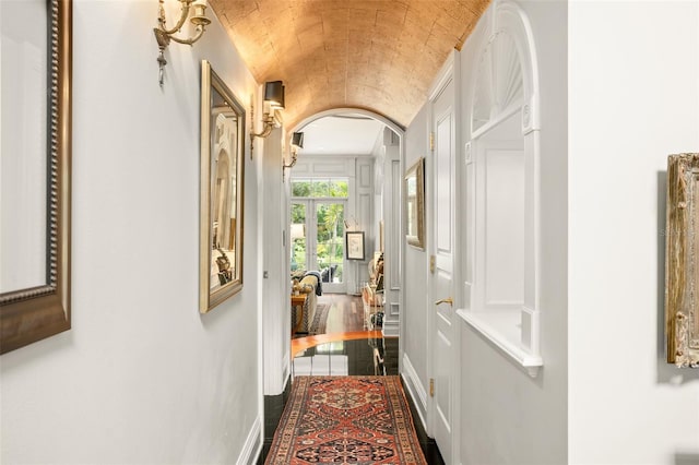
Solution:
[(292, 201), (292, 272), (318, 271), (323, 293), (346, 291), (346, 200), (304, 199)]

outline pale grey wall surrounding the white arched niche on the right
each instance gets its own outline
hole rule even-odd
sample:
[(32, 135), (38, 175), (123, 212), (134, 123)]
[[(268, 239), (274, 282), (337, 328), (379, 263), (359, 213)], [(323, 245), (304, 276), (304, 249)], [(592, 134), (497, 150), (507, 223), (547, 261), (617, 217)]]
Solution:
[[(537, 298), (544, 368), (530, 378), (479, 333), (460, 323), (459, 461), (464, 464), (561, 464), (567, 457), (567, 3), (518, 4), (532, 25), (541, 79)], [(469, 134), (482, 28), (479, 23), (462, 49), (464, 134)]]

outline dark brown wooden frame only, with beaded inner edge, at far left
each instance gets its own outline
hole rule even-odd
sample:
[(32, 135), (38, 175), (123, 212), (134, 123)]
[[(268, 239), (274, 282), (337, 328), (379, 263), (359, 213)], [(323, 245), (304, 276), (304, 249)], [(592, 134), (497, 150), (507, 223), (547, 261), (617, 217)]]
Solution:
[(0, 354), (71, 329), (72, 0), (47, 0), (47, 284), (0, 295)]

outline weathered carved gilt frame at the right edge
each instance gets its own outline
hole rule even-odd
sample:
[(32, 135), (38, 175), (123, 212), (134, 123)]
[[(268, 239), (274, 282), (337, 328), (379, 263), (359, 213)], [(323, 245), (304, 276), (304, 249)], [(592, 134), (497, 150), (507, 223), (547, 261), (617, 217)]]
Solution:
[(699, 154), (667, 157), (666, 215), (667, 362), (699, 368)]

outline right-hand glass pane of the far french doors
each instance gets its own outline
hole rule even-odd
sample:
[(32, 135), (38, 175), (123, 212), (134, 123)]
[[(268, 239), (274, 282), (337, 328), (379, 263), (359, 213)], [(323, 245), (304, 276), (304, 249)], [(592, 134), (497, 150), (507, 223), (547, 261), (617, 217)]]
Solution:
[(344, 220), (345, 202), (316, 203), (316, 261), (323, 291), (344, 291)]

